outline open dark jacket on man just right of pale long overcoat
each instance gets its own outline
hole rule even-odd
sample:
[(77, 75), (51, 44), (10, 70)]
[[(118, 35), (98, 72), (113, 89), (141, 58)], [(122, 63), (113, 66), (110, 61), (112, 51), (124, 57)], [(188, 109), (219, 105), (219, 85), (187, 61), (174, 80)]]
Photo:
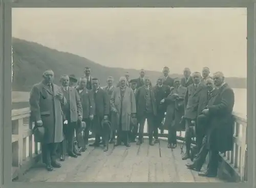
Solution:
[[(157, 115), (157, 105), (156, 105), (156, 98), (155, 93), (152, 87), (150, 87), (151, 92), (151, 99), (153, 105), (153, 113)], [(136, 93), (136, 108), (137, 108), (137, 117), (142, 117), (146, 110), (146, 86), (142, 86), (138, 88)]]

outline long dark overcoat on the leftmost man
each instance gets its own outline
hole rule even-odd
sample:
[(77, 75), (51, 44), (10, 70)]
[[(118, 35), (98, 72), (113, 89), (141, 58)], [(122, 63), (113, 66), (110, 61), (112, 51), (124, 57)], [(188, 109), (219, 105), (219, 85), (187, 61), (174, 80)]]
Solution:
[[(41, 120), (45, 127), (45, 137), (42, 143), (58, 143), (63, 140), (63, 112), (61, 106), (67, 103), (65, 97), (59, 100), (57, 93), (62, 93), (60, 87), (52, 84), (53, 91), (44, 82), (35, 84), (30, 92), (30, 110), (34, 121)], [(36, 126), (36, 125), (35, 125)]]

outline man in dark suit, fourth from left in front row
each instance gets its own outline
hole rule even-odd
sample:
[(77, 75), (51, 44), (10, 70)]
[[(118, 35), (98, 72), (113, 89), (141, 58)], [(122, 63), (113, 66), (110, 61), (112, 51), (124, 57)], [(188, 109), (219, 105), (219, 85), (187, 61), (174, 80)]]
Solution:
[(95, 142), (90, 145), (94, 147), (98, 147), (100, 144), (100, 137), (102, 137), (104, 150), (106, 150), (109, 140), (109, 132), (102, 131), (102, 120), (108, 120), (108, 116), (110, 113), (110, 101), (108, 98), (108, 94), (104, 90), (99, 87), (99, 79), (92, 78), (93, 85), (93, 96), (95, 102), (95, 116), (92, 121), (93, 132), (95, 133)]

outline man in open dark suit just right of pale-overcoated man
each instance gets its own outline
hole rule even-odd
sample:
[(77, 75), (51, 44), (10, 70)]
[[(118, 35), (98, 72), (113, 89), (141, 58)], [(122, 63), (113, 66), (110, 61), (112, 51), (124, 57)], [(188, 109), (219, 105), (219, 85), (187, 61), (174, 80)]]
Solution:
[(158, 127), (155, 126), (155, 118), (157, 115), (156, 98), (151, 81), (145, 76), (145, 85), (140, 87), (136, 94), (137, 120), (139, 122), (139, 139), (137, 145), (142, 143), (143, 130), (145, 120), (147, 120), (149, 144), (154, 145), (154, 137), (157, 138)]

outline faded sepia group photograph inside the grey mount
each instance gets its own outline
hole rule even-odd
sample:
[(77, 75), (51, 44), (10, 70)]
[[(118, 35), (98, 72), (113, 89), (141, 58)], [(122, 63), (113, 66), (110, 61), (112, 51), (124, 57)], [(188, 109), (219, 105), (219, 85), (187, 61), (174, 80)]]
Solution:
[(247, 181), (246, 9), (13, 8), (12, 181)]

